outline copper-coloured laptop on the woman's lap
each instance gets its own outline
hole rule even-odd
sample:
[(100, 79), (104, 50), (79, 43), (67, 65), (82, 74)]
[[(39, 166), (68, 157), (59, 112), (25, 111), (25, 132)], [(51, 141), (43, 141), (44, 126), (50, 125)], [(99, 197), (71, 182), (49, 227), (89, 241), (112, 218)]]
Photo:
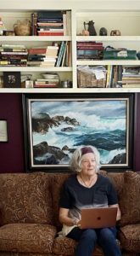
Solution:
[(81, 209), (81, 229), (100, 229), (116, 224), (117, 207)]

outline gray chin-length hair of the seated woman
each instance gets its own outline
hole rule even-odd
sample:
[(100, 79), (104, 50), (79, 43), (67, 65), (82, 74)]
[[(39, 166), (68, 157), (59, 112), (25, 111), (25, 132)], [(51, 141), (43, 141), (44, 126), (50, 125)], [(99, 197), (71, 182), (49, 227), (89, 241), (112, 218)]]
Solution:
[(71, 160), (70, 160), (70, 169), (73, 172), (81, 172), (81, 160), (82, 160), (82, 148), (91, 148), (92, 153), (95, 156), (95, 160), (96, 160), (96, 172), (98, 172), (99, 168), (100, 168), (100, 154), (98, 152), (98, 149), (87, 145), (85, 147), (79, 147), (76, 148), (75, 152), (73, 153)]

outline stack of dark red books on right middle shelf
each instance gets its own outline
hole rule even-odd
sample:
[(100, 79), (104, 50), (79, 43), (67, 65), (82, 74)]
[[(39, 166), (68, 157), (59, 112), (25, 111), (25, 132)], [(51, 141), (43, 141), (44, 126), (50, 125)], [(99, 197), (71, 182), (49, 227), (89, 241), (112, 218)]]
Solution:
[(77, 59), (102, 60), (104, 53), (103, 43), (77, 42)]

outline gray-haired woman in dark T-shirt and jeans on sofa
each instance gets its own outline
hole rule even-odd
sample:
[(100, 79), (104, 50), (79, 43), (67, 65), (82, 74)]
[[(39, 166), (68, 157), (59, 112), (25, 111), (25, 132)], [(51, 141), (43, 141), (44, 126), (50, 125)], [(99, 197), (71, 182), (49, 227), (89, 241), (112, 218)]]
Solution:
[(92, 256), (97, 242), (105, 256), (121, 255), (115, 227), (80, 229), (81, 208), (117, 207), (117, 220), (120, 219), (115, 188), (108, 177), (98, 174), (99, 159), (97, 148), (77, 148), (70, 161), (70, 167), (76, 174), (65, 181), (60, 196), (59, 221), (63, 224), (62, 233), (78, 241), (76, 256)]

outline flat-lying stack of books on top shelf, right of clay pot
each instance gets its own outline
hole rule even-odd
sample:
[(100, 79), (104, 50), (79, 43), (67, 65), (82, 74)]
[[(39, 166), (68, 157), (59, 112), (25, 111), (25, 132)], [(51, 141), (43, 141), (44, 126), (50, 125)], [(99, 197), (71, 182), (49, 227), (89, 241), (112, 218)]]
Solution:
[(64, 36), (63, 13), (61, 10), (37, 13), (38, 36)]

